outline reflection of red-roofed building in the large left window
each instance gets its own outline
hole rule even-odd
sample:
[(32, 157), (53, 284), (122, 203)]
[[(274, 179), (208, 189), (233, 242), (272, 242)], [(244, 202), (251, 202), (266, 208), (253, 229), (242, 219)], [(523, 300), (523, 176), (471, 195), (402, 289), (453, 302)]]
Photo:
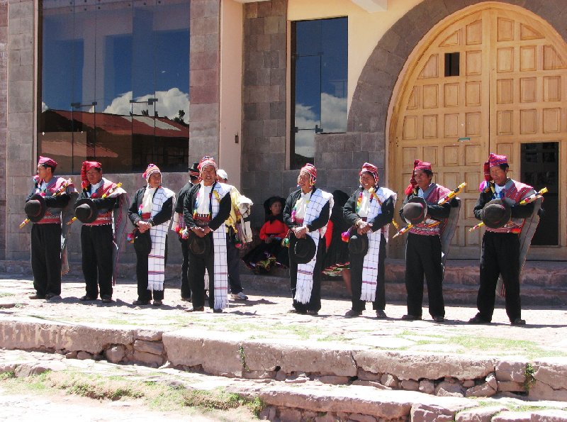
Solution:
[(85, 111), (47, 110), (38, 134), (42, 154), (58, 157), (59, 165), (79, 168), (85, 157), (103, 162), (106, 172), (144, 170), (160, 162), (170, 171), (185, 171), (189, 126), (152, 116), (117, 116)]

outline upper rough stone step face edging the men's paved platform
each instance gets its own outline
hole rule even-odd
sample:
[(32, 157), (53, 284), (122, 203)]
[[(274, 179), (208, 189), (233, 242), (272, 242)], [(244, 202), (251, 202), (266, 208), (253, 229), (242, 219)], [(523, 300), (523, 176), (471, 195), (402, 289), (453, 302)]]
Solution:
[(371, 386), (433, 396), (488, 397), (510, 392), (537, 400), (567, 401), (567, 360), (389, 352), (327, 348), (298, 341), (241, 340), (237, 333), (186, 328), (69, 326), (0, 321), (0, 348), (58, 352), (81, 359), (183, 370), (221, 377), (275, 379), (286, 384)]

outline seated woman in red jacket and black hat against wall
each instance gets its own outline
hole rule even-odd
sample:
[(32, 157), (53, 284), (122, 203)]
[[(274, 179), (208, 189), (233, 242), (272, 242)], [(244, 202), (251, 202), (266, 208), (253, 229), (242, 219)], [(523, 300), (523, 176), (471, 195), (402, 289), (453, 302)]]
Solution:
[(284, 203), (285, 199), (279, 196), (272, 196), (264, 201), (266, 223), (260, 229), (262, 243), (242, 258), (246, 266), (254, 272), (269, 272), (274, 266), (289, 265), (288, 248), (281, 245), (288, 233), (281, 215)]

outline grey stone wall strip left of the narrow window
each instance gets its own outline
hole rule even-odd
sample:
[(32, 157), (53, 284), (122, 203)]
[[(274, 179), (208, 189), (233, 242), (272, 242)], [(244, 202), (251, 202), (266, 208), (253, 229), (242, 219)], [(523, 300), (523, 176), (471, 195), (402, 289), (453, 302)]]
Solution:
[(254, 201), (253, 225), (261, 226), (264, 200), (296, 186), (296, 172), (286, 171), (287, 1), (244, 7), (242, 193)]

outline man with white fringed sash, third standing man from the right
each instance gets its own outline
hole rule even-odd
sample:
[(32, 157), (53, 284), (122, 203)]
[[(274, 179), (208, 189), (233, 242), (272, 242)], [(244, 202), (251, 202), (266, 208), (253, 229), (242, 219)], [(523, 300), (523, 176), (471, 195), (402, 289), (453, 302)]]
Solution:
[(359, 177), (360, 187), (353, 192), (347, 204), (344, 204), (343, 215), (353, 226), (352, 235), (368, 238), (368, 249), (357, 253), (352, 244), (349, 245), (352, 308), (345, 316), (361, 315), (366, 302), (372, 302), (376, 317), (386, 318), (384, 259), (388, 225), (394, 215), (396, 194), (378, 185), (378, 168), (369, 162), (362, 165)]

